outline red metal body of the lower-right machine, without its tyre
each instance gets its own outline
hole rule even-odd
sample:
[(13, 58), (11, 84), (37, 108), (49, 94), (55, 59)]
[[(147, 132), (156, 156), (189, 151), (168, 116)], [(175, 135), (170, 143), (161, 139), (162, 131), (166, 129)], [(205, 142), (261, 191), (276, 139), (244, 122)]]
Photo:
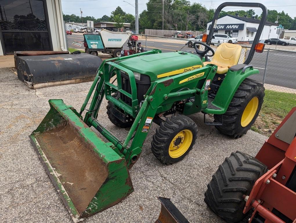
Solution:
[(256, 158), (269, 171), (260, 177), (248, 197), (244, 214), (250, 222), (262, 216), (269, 222), (296, 222), (296, 107), (264, 143)]

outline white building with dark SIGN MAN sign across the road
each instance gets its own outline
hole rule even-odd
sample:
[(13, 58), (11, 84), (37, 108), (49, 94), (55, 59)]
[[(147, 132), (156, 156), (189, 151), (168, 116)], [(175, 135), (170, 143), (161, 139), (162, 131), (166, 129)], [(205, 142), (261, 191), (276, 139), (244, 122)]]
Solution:
[[(240, 17), (238, 15), (224, 15), (218, 18), (214, 34), (229, 34), (238, 41), (252, 42), (255, 38), (260, 20), (255, 18)], [(212, 22), (207, 23), (207, 34), (209, 34), (210, 25)], [(260, 40), (269, 38), (277, 38), (276, 23), (266, 21)]]

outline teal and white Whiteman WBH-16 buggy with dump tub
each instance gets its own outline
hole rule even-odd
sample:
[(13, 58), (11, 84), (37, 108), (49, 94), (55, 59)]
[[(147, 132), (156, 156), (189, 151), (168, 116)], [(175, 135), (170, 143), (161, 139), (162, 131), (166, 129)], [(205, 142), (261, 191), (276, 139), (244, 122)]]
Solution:
[(121, 57), (123, 44), (128, 41), (131, 33), (111, 32), (102, 29), (99, 33), (83, 34), (85, 52), (98, 55), (98, 52), (110, 54), (112, 57)]

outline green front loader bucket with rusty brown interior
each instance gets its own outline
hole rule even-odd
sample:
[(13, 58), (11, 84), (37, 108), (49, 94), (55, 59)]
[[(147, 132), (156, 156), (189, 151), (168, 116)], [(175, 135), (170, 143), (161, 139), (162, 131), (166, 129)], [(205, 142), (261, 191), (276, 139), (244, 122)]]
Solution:
[(30, 135), (49, 177), (74, 222), (119, 203), (133, 185), (126, 165), (62, 100)]

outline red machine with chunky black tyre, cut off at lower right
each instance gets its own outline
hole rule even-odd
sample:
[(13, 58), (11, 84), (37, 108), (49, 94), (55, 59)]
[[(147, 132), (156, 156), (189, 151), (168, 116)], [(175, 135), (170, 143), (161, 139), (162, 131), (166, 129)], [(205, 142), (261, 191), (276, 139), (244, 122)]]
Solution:
[[(296, 107), (258, 154), (236, 151), (207, 185), (205, 203), (226, 222), (296, 222)], [(252, 209), (252, 211), (251, 211)], [(251, 211), (251, 213), (250, 213)]]

